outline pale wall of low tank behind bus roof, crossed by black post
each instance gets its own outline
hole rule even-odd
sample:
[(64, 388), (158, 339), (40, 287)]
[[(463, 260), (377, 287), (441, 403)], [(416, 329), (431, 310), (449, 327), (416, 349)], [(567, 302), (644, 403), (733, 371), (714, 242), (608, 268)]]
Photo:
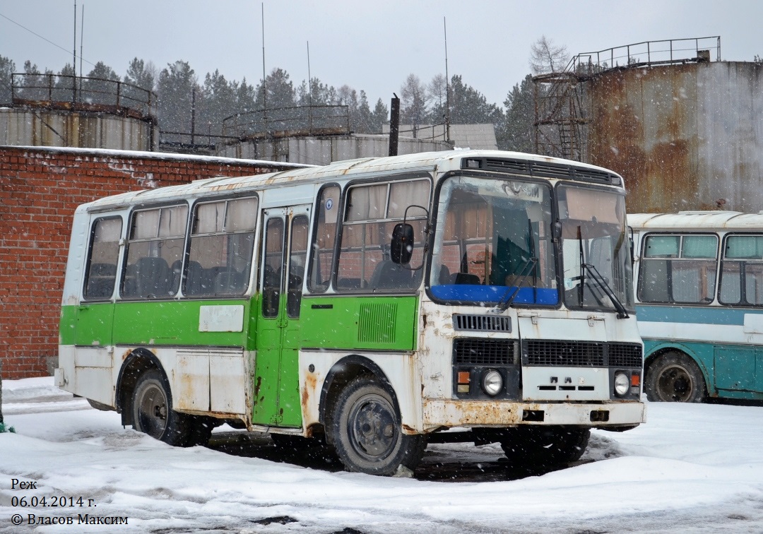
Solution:
[[(452, 150), (443, 141), (401, 137), (398, 154), (414, 154), (437, 150)], [(331, 137), (284, 137), (275, 140), (250, 140), (221, 146), (217, 156), (269, 159), (278, 162), (328, 165), (343, 159), (358, 159), (389, 155), (386, 135), (353, 134)]]

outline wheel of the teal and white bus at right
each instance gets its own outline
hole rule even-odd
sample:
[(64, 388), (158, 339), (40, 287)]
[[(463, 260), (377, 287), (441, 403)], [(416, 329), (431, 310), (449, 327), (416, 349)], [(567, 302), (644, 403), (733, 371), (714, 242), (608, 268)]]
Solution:
[(644, 391), (649, 401), (702, 402), (705, 379), (694, 360), (681, 352), (667, 352), (646, 371)]

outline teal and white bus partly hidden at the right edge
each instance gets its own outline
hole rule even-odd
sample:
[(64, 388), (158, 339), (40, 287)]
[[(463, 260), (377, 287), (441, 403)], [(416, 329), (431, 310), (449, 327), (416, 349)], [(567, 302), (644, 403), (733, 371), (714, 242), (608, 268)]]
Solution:
[(763, 401), (763, 212), (628, 214), (652, 401)]

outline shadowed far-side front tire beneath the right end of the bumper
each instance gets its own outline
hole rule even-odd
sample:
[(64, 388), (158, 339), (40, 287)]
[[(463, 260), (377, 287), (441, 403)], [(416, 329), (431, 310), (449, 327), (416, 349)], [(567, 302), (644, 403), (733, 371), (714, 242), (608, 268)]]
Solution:
[(575, 462), (588, 447), (591, 429), (569, 426), (517, 426), (501, 436), (512, 466), (553, 468)]

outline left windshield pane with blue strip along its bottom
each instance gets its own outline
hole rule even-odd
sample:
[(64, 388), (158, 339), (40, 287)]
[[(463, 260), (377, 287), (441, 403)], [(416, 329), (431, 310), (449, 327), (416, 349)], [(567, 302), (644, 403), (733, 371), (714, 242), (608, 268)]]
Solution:
[(559, 304), (551, 188), (452, 176), (437, 204), (430, 291), (465, 304)]

